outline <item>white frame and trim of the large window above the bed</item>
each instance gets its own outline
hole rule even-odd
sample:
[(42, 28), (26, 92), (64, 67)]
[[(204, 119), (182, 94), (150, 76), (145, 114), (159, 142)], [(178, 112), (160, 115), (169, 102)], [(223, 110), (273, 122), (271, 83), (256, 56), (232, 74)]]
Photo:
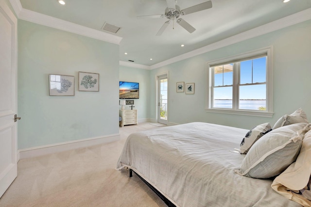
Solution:
[[(213, 84), (213, 71), (211, 67), (217, 64), (225, 64), (230, 62), (237, 62), (242, 59), (251, 58), (257, 55), (267, 54), (267, 65), (266, 65), (266, 110), (242, 110), (242, 109), (215, 109), (212, 108), (212, 84)], [(233, 80), (233, 84), (238, 84), (238, 80)], [(260, 48), (250, 52), (214, 60), (207, 62), (207, 87), (206, 87), (206, 111), (216, 113), (227, 113), (227, 114), (238, 114), (238, 115), (249, 115), (249, 116), (261, 116), (261, 117), (272, 117), (273, 116), (273, 47)], [(233, 96), (239, 96), (236, 92), (233, 92)], [(235, 103), (233, 103), (235, 104)]]

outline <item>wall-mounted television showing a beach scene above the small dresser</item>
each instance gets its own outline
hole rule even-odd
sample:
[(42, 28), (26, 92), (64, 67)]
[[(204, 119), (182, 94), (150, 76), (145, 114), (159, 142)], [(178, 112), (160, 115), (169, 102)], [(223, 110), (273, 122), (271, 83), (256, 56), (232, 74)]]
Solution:
[(120, 99), (138, 99), (139, 83), (137, 82), (119, 82), (119, 98)]

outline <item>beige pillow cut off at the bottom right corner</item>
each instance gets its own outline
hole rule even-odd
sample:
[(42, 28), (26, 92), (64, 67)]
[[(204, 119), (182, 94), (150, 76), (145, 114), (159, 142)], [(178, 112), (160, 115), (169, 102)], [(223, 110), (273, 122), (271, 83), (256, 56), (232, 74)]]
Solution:
[(271, 187), (284, 197), (302, 206), (311, 206), (311, 124), (302, 141), (300, 153), (283, 173), (278, 175)]

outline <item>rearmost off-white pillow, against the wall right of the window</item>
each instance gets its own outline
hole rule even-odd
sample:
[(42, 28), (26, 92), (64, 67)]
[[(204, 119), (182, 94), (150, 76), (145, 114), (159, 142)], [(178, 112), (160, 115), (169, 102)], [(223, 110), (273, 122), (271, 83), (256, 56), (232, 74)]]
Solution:
[(304, 111), (302, 111), (301, 108), (297, 109), (290, 115), (285, 114), (284, 116), (279, 118), (276, 121), (276, 124), (273, 126), (273, 129), (296, 123), (309, 123), (307, 119), (307, 114)]

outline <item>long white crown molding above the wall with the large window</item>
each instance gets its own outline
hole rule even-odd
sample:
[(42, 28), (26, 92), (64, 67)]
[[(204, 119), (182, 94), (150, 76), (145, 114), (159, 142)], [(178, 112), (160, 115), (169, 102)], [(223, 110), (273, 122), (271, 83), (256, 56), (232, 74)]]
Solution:
[(304, 22), (310, 19), (311, 19), (311, 8), (303, 10), (301, 12), (297, 12), (294, 15), (283, 17), (281, 19), (278, 19), (273, 22), (254, 28), (252, 30), (228, 37), (226, 39), (212, 43), (205, 47), (192, 50), (190, 52), (173, 57), (161, 63), (153, 64), (150, 67), (151, 69), (155, 69), (155, 68), (159, 68), (159, 67), (162, 67), (168, 64), (173, 64), (175, 62), (182, 61), (187, 58), (191, 58), (191, 57), (194, 57), (194, 56), (197, 56), (197, 55), (200, 55), (200, 54), (203, 54), (203, 53), (215, 50), (215, 49), (223, 48), (225, 46), (229, 46), (229, 45), (232, 45), (238, 42), (242, 42), (244, 40), (257, 37), (257, 36), (260, 36), (260, 35), (263, 35), (269, 32), (274, 32), (276, 30), (280, 30), (285, 27), (289, 27), (294, 24), (298, 24), (298, 23), (301, 23), (301, 22)]

